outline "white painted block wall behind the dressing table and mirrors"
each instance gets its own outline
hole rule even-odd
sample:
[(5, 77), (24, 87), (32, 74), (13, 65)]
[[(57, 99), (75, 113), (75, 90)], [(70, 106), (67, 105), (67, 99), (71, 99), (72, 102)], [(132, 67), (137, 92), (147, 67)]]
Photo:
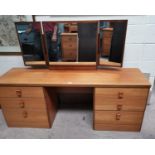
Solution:
[[(28, 17), (28, 20), (31, 18)], [(155, 16), (37, 16), (38, 21), (48, 20), (104, 20), (127, 19), (128, 28), (123, 67), (137, 67), (155, 77)], [(0, 75), (12, 67), (23, 67), (20, 56), (0, 57)]]

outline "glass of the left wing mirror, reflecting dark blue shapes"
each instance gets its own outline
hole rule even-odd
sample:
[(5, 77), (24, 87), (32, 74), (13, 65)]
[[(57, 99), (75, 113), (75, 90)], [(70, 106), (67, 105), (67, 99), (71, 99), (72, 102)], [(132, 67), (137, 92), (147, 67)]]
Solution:
[(26, 65), (45, 65), (39, 22), (16, 23), (19, 43)]

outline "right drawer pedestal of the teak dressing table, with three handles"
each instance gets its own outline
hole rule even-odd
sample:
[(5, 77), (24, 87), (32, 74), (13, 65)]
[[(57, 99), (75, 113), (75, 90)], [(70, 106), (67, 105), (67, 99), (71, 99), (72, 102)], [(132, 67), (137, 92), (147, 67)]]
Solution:
[(94, 129), (139, 131), (148, 88), (95, 88)]

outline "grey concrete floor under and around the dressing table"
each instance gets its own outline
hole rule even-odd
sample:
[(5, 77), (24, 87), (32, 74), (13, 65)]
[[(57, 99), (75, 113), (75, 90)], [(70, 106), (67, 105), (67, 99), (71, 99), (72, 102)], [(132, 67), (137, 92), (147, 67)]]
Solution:
[[(155, 87), (154, 87), (155, 89)], [(92, 129), (91, 110), (66, 110), (58, 111), (53, 127), (51, 129), (32, 129), (32, 128), (8, 128), (2, 112), (0, 111), (0, 138), (14, 139), (154, 139), (155, 138), (155, 90), (148, 102), (142, 129), (140, 132), (113, 132), (113, 131), (94, 131)]]

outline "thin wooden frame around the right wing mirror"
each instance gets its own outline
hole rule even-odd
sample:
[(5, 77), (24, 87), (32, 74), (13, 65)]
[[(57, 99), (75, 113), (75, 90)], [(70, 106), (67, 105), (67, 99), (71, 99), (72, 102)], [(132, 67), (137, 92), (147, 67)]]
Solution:
[[(98, 68), (104, 68), (104, 67), (122, 67), (122, 65), (123, 65), (123, 59), (124, 59), (124, 49), (125, 49), (125, 41), (126, 41), (126, 33), (127, 33), (128, 20), (99, 20), (99, 24), (98, 24), (99, 25), (99, 28), (100, 28), (100, 22), (101, 21), (105, 21), (105, 22), (124, 22), (124, 24), (125, 24), (125, 34), (124, 34), (124, 40), (123, 40), (123, 50), (122, 50), (121, 63), (107, 61), (107, 62), (105, 62), (103, 64), (100, 64), (100, 50), (98, 49), (98, 53), (97, 53), (97, 67)], [(100, 29), (99, 29), (99, 32), (100, 32)], [(100, 36), (98, 36), (98, 38), (99, 37)], [(99, 47), (99, 45), (100, 44), (98, 42), (98, 47)]]

